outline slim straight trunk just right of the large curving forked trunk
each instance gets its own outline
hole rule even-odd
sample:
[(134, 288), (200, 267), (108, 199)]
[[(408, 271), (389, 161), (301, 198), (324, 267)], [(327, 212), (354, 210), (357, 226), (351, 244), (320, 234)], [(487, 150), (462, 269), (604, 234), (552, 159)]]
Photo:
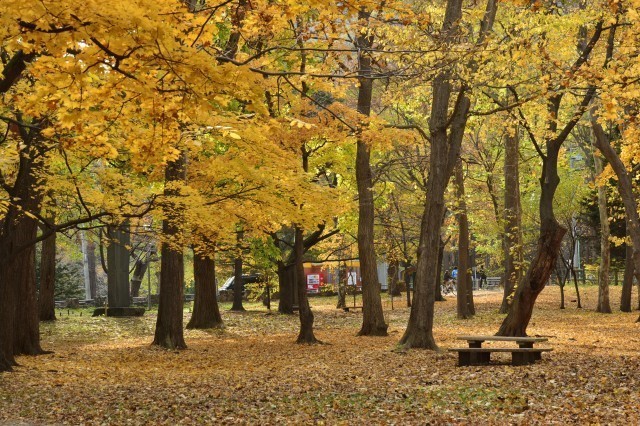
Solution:
[(469, 219), (467, 217), (467, 203), (464, 195), (464, 171), (462, 161), (458, 161), (455, 171), (456, 198), (458, 199), (458, 318), (467, 319), (475, 314), (473, 304), (473, 286), (471, 284), (471, 265), (469, 262)]

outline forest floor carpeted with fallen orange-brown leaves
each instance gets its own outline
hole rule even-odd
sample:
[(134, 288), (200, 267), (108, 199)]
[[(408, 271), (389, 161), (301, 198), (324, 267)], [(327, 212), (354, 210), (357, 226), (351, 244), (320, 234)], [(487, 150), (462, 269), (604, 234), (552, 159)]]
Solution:
[[(91, 318), (62, 312), (41, 327), (50, 355), (19, 357), (0, 373), (4, 424), (637, 424), (640, 419), (638, 312), (594, 312), (597, 289), (582, 288), (584, 308), (559, 290), (540, 296), (528, 333), (549, 337), (553, 352), (535, 365), (457, 367), (446, 351), (397, 351), (409, 310), (385, 299), (388, 337), (356, 337), (361, 314), (312, 298), (316, 336), (296, 345), (297, 317), (247, 304), (223, 311), (224, 330), (185, 331), (188, 349), (150, 345), (155, 311), (142, 318)], [(493, 334), (501, 294), (476, 294), (477, 315), (458, 320), (455, 300), (437, 303), (440, 347), (460, 334)], [(634, 295), (635, 299), (635, 295)], [(223, 305), (223, 308), (226, 305)], [(189, 313), (185, 310), (185, 323)], [(492, 358), (492, 359), (493, 359)]]

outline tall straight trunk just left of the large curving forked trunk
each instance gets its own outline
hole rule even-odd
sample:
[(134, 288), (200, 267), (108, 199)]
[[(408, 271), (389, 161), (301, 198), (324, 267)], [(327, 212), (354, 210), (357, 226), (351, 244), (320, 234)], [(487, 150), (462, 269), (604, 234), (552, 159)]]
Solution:
[[(368, 20), (370, 12), (361, 9), (358, 19)], [(373, 79), (371, 57), (367, 49), (373, 45), (373, 34), (365, 29), (357, 38), (358, 48), (358, 112), (365, 116), (371, 113)], [(371, 148), (360, 138), (356, 151), (356, 180), (358, 183), (358, 254), (362, 276), (362, 328), (359, 336), (386, 336), (387, 323), (382, 311), (380, 283), (374, 245), (373, 178), (371, 172)]]

